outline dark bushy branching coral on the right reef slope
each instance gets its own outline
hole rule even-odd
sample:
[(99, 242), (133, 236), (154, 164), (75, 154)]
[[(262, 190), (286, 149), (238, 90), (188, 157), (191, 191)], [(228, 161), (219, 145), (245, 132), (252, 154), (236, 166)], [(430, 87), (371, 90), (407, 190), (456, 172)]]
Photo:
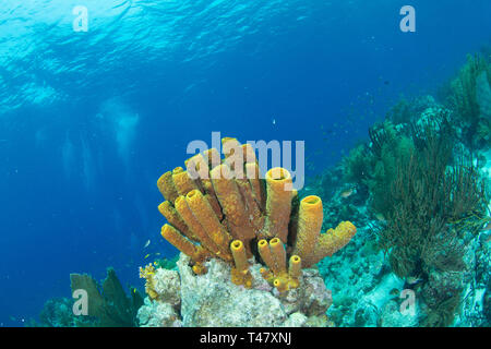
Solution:
[(488, 200), (471, 159), (462, 157), (448, 166), (452, 142), (444, 130), (426, 124), (418, 134), (410, 156), (397, 159), (379, 242), (390, 254), (396, 275), (418, 276), (426, 290), (438, 293), (424, 296), (426, 323), (448, 325), (462, 289), (447, 291), (436, 282), (436, 276), (462, 276), (466, 267), (465, 236), (483, 226)]

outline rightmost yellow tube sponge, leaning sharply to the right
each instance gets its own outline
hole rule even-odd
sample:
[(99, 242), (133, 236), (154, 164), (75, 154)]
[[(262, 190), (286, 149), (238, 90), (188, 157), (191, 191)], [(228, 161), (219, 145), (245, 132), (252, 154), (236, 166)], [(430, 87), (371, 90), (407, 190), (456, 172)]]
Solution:
[(336, 229), (330, 229), (326, 233), (322, 233), (319, 237), (319, 242), (314, 252), (307, 257), (304, 267), (309, 267), (326, 256), (332, 256), (343, 249), (356, 232), (357, 227), (355, 227), (352, 222), (342, 221)]

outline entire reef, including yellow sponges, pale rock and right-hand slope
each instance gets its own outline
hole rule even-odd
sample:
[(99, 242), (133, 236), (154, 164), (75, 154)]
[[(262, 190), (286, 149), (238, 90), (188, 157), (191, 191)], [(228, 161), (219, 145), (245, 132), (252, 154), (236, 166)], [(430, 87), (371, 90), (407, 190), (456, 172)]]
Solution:
[(72, 274), (88, 316), (51, 299), (29, 325), (491, 326), (489, 57), (439, 99), (400, 100), (299, 192), (223, 139), (225, 158), (207, 149), (157, 181), (161, 236), (181, 253), (140, 268), (144, 300), (112, 269), (101, 286)]

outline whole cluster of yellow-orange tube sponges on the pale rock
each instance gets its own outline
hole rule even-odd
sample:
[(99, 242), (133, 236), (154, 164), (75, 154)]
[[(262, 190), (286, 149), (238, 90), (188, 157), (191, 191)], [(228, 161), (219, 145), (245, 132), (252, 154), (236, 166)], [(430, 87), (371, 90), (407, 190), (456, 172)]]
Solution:
[(190, 256), (195, 274), (206, 273), (204, 262), (218, 257), (233, 263), (236, 285), (250, 288), (249, 258), (259, 253), (266, 265), (262, 276), (278, 291), (298, 287), (302, 267), (345, 246), (356, 227), (344, 221), (321, 233), (319, 196), (304, 197), (292, 214), (297, 192), (286, 169), (273, 168), (263, 180), (249, 144), (230, 137), (221, 144), (224, 159), (207, 149), (188, 159), (185, 170), (178, 167), (158, 179), (166, 200), (158, 209), (168, 221), (161, 236)]

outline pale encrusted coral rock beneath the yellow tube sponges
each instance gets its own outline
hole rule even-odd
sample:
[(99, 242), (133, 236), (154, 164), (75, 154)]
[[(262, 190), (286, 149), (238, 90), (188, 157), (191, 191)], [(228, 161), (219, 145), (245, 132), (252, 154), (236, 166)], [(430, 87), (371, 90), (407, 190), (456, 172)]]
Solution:
[[(279, 293), (261, 275), (261, 265), (249, 267), (251, 287), (230, 280), (232, 266), (220, 260), (204, 262), (207, 273), (196, 275), (191, 258), (180, 254), (178, 272), (157, 270), (155, 299), (146, 298), (137, 317), (141, 326), (326, 326), (325, 315), (332, 303), (331, 292), (315, 269), (302, 269), (301, 285)], [(175, 284), (178, 280), (178, 284)], [(179, 299), (180, 301), (176, 301)]]

